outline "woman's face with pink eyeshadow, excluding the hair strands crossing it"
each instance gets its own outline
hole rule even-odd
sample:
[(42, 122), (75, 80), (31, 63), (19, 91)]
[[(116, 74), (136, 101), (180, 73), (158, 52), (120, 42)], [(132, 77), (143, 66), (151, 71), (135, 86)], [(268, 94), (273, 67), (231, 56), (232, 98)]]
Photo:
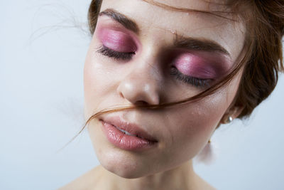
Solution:
[[(199, 0), (160, 2), (224, 11)], [(197, 95), (229, 72), (244, 46), (241, 23), (209, 14), (138, 0), (104, 0), (101, 12), (84, 65), (86, 118), (115, 106), (161, 104)], [(99, 162), (119, 176), (136, 178), (192, 159), (228, 112), (240, 75), (198, 102), (112, 112), (92, 120), (88, 130)]]

